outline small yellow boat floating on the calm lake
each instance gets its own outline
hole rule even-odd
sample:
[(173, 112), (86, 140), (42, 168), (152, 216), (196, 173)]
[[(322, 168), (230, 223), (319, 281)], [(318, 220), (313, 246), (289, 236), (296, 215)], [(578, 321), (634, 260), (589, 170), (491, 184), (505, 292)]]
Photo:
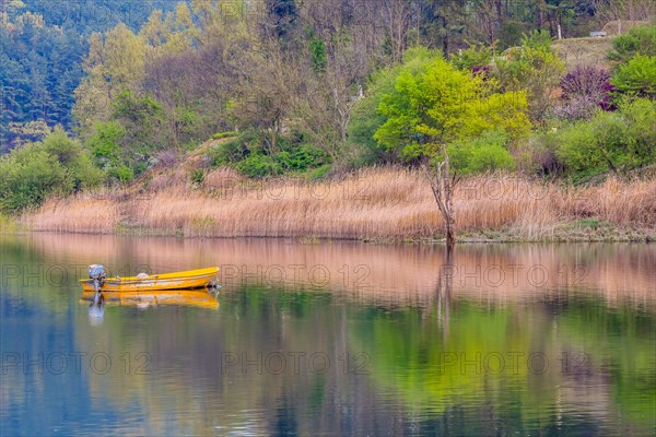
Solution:
[[(213, 285), (219, 273), (218, 267), (208, 269), (188, 270), (164, 274), (151, 274), (129, 277), (103, 277), (99, 282), (101, 292), (156, 292), (165, 290), (202, 288)], [(82, 290), (93, 293), (94, 279), (80, 280)], [(103, 293), (105, 297), (107, 295)]]

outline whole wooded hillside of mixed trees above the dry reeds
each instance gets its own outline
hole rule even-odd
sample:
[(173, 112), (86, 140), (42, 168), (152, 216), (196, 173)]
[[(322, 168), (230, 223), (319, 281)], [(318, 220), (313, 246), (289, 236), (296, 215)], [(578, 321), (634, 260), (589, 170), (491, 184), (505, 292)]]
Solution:
[[(208, 140), (207, 169), (250, 177), (412, 166), (442, 147), (460, 174), (575, 182), (656, 162), (651, 0), (3, 0), (0, 12), (5, 213), (128, 184)], [(617, 20), (608, 69), (566, 68), (552, 48)]]

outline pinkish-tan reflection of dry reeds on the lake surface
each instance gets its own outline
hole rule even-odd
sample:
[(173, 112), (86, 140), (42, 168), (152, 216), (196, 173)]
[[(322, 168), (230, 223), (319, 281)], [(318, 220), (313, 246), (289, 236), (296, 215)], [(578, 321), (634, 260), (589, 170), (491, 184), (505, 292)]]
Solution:
[[(220, 265), (227, 290), (245, 285), (329, 290), (388, 306), (430, 305), (437, 286), (435, 272), (445, 261), (442, 248), (429, 245), (54, 234), (27, 238), (28, 247), (46, 260), (148, 265), (150, 271)], [(503, 304), (588, 293), (610, 305), (631, 300), (653, 306), (654, 265), (656, 246), (644, 244), (461, 245), (453, 261), (453, 298)], [(327, 272), (328, 281), (313, 281), (308, 274), (313, 268)], [(284, 277), (279, 280), (281, 272)]]

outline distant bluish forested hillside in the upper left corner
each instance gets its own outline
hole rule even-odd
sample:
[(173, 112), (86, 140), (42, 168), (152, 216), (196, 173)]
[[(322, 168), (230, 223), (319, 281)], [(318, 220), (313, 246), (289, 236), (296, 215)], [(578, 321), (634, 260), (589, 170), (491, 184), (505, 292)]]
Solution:
[(0, 1), (0, 142), (2, 151), (74, 126), (73, 92), (84, 76), (89, 38), (119, 22), (138, 29), (169, 1)]

